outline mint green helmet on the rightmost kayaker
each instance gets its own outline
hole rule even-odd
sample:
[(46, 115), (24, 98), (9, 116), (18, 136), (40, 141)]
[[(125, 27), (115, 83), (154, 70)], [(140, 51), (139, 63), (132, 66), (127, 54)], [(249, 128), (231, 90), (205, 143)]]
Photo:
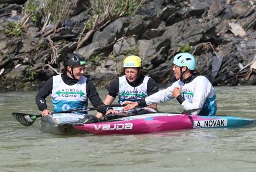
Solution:
[(179, 67), (187, 66), (189, 70), (195, 70), (196, 61), (192, 54), (179, 53), (173, 58), (173, 64)]

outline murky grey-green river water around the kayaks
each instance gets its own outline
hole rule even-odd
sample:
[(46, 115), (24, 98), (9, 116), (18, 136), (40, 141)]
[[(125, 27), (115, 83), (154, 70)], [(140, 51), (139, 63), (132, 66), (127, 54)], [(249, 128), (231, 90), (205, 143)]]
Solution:
[[(256, 86), (215, 89), (217, 115), (256, 118)], [(0, 172), (256, 171), (256, 127), (59, 136), (39, 131), (38, 119), (25, 127), (11, 116), (11, 112), (39, 113), (35, 94), (0, 92)], [(106, 90), (99, 94), (104, 99)], [(176, 100), (160, 104), (159, 110), (182, 111)]]

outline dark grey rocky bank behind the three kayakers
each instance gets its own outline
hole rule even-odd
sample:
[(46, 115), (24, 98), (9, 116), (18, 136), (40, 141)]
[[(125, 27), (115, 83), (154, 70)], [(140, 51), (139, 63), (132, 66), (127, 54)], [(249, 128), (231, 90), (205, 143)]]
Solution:
[(255, 0), (148, 0), (135, 16), (110, 22), (76, 50), (88, 20), (79, 0), (51, 36), (57, 59), (49, 40), (40, 38), (40, 26), (29, 25), (19, 37), (4, 34), (9, 21), (22, 19), (25, 2), (0, 0), (0, 90), (38, 89), (61, 72), (63, 58), (72, 52), (87, 57), (86, 76), (101, 87), (122, 75), (128, 55), (142, 57), (144, 74), (170, 85), (172, 59), (181, 51), (195, 55), (197, 72), (215, 86), (256, 85)]

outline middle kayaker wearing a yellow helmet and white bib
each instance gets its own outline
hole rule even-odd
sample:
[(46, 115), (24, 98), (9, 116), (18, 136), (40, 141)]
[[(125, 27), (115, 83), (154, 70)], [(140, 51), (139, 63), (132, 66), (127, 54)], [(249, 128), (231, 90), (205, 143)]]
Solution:
[[(116, 96), (119, 103), (124, 101), (138, 102), (145, 97), (158, 92), (156, 82), (142, 74), (142, 59), (138, 56), (128, 56), (123, 62), (124, 76), (114, 80), (108, 89), (108, 95), (104, 101), (105, 105), (111, 105)], [(157, 104), (149, 106), (153, 110), (157, 110)], [(110, 110), (107, 114), (118, 114), (115, 110)], [(96, 117), (101, 118), (102, 114)]]

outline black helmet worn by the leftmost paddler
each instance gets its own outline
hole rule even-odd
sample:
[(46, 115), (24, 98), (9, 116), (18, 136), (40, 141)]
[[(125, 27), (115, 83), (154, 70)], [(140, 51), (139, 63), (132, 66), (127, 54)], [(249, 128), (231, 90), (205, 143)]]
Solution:
[(85, 65), (85, 64), (86, 64), (85, 57), (78, 53), (68, 54), (64, 59), (65, 69), (67, 66), (75, 67), (75, 66)]

